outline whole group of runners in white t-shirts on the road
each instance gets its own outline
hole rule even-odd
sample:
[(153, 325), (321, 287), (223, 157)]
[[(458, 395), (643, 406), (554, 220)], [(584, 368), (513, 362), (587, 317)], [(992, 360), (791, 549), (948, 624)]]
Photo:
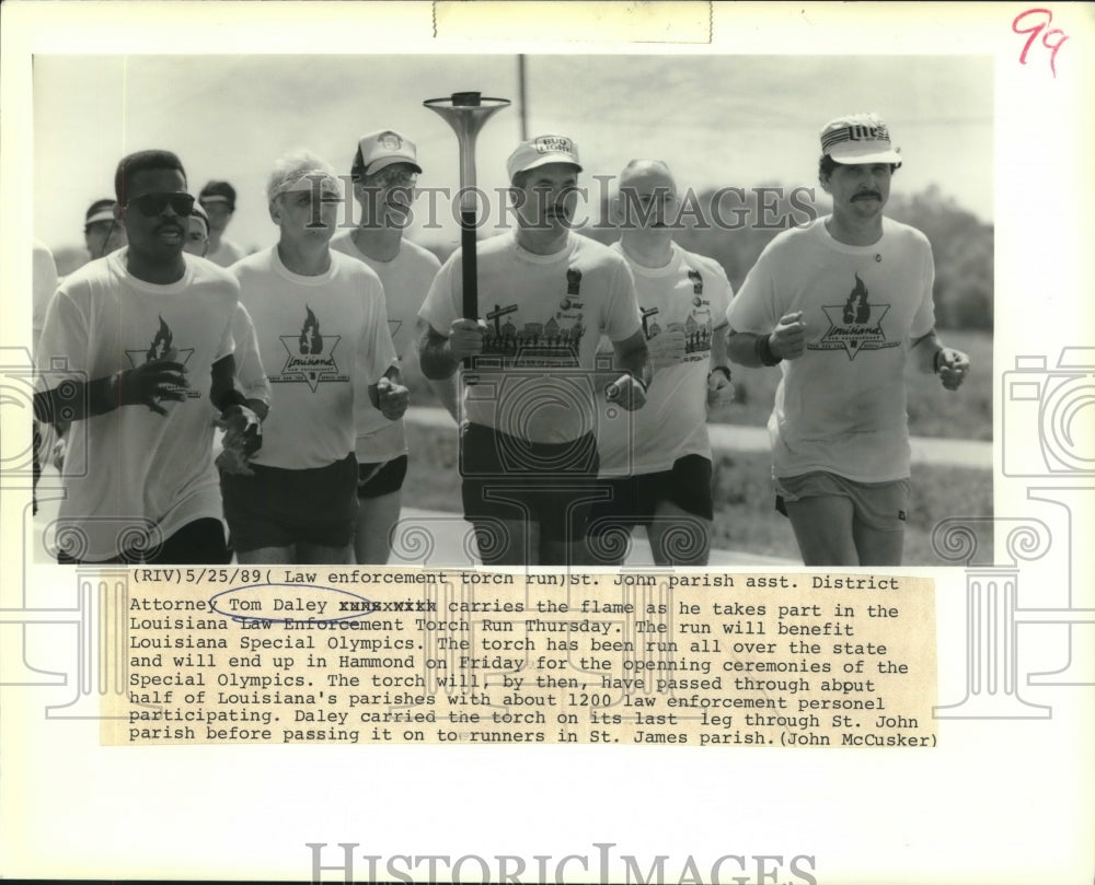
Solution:
[(93, 260), (36, 311), (35, 418), (65, 440), (58, 559), (388, 561), (408, 464), (400, 362), (416, 347), (459, 423), (485, 564), (619, 564), (639, 525), (658, 564), (705, 564), (706, 418), (733, 400), (731, 363), (782, 372), (774, 493), (804, 562), (897, 564), (906, 365), (948, 389), (969, 371), (935, 333), (927, 240), (884, 214), (900, 163), (876, 117), (828, 124), (831, 214), (776, 236), (735, 294), (673, 242), (665, 163), (620, 172), (604, 246), (572, 224), (577, 145), (530, 139), (507, 163), (516, 226), (477, 244), (465, 317), (464, 256), (441, 265), (404, 235), (423, 171), (402, 133), (358, 141), (360, 217), (342, 230), (334, 168), (279, 160), (277, 243), (252, 255), (223, 236), (229, 184), (195, 199), (175, 154), (130, 154), (115, 199), (89, 210)]

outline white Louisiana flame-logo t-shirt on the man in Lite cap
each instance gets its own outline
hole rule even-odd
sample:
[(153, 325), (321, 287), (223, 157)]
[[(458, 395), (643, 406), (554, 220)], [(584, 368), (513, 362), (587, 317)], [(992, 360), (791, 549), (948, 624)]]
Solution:
[(777, 477), (829, 470), (860, 482), (909, 476), (904, 366), (935, 326), (932, 247), (890, 219), (872, 246), (832, 238), (826, 218), (780, 234), (730, 303), (737, 331), (765, 334), (803, 311), (806, 352), (780, 363), (769, 420)]

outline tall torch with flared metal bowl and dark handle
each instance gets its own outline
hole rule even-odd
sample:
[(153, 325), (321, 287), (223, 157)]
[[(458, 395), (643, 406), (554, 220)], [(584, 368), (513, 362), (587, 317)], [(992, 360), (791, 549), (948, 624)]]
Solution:
[[(463, 315), (479, 318), (479, 282), (475, 263), (475, 138), (496, 110), (509, 106), (508, 98), (485, 98), (477, 92), (454, 92), (448, 98), (423, 104), (440, 114), (457, 133), (460, 145), (460, 257), (463, 264)], [(464, 361), (464, 369), (471, 360)]]

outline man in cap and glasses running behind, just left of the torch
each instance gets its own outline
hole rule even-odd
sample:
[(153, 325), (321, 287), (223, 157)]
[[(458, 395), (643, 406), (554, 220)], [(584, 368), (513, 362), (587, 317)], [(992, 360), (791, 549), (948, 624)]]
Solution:
[[(392, 342), (401, 360), (422, 331), (418, 308), (441, 266), (431, 252), (403, 236), (420, 172), (411, 139), (391, 129), (362, 137), (350, 166), (360, 222), (331, 240), (332, 249), (365, 261), (380, 277)], [(456, 416), (453, 379), (431, 385)], [(400, 519), (406, 432), (402, 420), (389, 421), (368, 404), (355, 408), (355, 415), (358, 515), (354, 548), (358, 562), (382, 566), (391, 552), (391, 528)]]

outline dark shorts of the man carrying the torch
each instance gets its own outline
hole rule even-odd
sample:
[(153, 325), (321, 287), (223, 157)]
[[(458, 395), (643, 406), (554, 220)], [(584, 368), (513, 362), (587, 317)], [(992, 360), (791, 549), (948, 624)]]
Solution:
[(530, 521), (541, 537), (585, 535), (597, 490), (597, 438), (530, 443), (483, 424), (461, 433), (464, 519)]

